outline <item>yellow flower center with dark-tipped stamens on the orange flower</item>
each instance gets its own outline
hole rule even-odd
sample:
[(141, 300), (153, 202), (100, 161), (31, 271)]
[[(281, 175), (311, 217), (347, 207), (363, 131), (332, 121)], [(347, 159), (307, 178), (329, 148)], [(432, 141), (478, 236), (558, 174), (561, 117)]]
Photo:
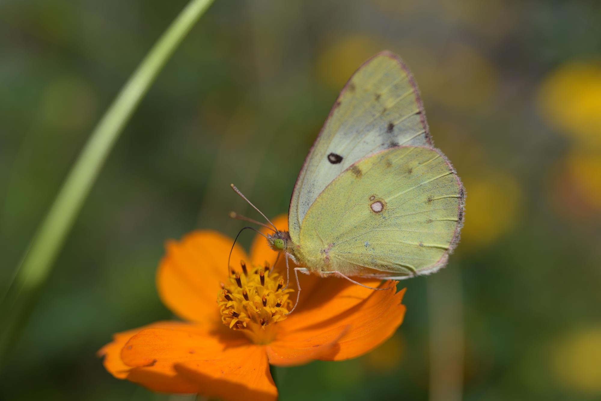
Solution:
[(233, 330), (241, 330), (253, 342), (269, 343), (275, 337), (275, 323), (286, 318), (292, 306), (284, 289), (284, 277), (264, 267), (246, 268), (240, 261), (242, 274), (232, 271), (227, 283), (221, 284), (217, 303), (221, 321)]

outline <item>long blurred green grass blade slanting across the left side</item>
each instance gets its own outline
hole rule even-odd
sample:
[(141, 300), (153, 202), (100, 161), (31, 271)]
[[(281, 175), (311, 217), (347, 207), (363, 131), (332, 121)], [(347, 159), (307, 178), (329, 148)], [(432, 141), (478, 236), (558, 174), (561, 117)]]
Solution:
[(91, 133), (0, 304), (0, 368), (112, 146), (169, 56), (215, 0), (191, 0), (134, 71)]

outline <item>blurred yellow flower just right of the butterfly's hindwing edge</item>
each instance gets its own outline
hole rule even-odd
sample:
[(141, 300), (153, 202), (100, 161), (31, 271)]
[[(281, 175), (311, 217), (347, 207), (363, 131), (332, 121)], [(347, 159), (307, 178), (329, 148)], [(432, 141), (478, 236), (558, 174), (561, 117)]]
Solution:
[(486, 246), (516, 223), (522, 191), (505, 173), (488, 172), (465, 176), (468, 193), (462, 247)]

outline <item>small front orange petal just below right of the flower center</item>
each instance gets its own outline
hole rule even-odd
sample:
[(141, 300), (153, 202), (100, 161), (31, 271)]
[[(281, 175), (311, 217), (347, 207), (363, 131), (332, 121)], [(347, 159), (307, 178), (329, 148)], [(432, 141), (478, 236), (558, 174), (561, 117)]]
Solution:
[(338, 341), (349, 327), (331, 330), (302, 331), (290, 333), (283, 340), (267, 345), (269, 363), (276, 366), (294, 366), (315, 359), (329, 360), (338, 352)]

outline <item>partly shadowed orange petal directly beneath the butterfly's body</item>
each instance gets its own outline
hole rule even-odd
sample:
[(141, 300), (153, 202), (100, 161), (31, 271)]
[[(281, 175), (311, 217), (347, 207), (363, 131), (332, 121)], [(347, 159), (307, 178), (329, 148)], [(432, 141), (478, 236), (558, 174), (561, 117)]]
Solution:
[[(301, 277), (301, 280), (303, 279), (304, 277)], [(314, 280), (317, 282), (310, 292), (305, 292), (304, 282), (301, 281), (302, 292), (299, 305), (285, 321), (280, 323), (285, 330), (299, 330), (332, 319), (362, 303), (374, 292), (392, 292), (392, 290), (374, 291), (341, 277), (317, 277)], [(374, 288), (382, 282), (377, 279), (356, 279), (356, 281)]]

